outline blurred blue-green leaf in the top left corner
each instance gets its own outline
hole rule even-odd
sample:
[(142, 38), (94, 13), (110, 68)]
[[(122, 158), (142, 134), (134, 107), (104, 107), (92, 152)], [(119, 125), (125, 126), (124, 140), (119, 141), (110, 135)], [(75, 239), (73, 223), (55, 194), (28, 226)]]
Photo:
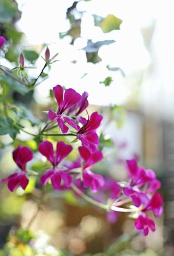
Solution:
[(19, 15), (18, 4), (12, 0), (0, 0), (0, 23), (10, 22)]

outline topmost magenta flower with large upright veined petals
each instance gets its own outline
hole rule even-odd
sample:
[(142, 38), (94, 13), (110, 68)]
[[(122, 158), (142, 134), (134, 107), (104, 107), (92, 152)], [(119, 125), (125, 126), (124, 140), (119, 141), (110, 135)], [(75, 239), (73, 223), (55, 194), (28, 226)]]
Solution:
[(78, 94), (74, 89), (63, 90), (61, 85), (57, 85), (53, 88), (54, 97), (58, 102), (58, 111), (54, 112), (49, 110), (48, 119), (51, 121), (57, 120), (61, 132), (67, 133), (69, 128), (66, 126), (68, 123), (71, 127), (78, 129), (74, 120), (69, 117), (64, 116), (65, 112), (69, 110), (70, 107), (74, 106), (81, 100), (81, 95)]

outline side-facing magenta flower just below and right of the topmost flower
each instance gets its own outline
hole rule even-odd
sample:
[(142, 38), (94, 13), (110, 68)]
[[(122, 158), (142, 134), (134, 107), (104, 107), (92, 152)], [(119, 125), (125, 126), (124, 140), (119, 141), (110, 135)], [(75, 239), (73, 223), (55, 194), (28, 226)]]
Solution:
[(98, 112), (93, 112), (91, 117), (77, 132), (77, 138), (82, 141), (82, 145), (91, 153), (95, 152), (99, 145), (96, 129), (100, 126), (102, 119), (103, 116), (99, 115)]

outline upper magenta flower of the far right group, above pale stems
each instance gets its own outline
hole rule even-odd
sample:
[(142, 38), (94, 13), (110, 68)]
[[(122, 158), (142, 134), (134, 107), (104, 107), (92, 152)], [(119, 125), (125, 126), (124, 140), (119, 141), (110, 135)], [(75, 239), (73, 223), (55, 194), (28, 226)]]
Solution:
[(161, 187), (161, 183), (156, 179), (153, 170), (145, 170), (137, 165), (136, 159), (127, 160), (127, 171), (130, 176), (129, 185), (123, 188), (124, 194), (127, 197), (132, 197), (134, 204), (138, 207), (141, 205), (138, 193), (141, 193), (141, 188), (144, 184), (148, 184), (145, 193), (151, 193)]

